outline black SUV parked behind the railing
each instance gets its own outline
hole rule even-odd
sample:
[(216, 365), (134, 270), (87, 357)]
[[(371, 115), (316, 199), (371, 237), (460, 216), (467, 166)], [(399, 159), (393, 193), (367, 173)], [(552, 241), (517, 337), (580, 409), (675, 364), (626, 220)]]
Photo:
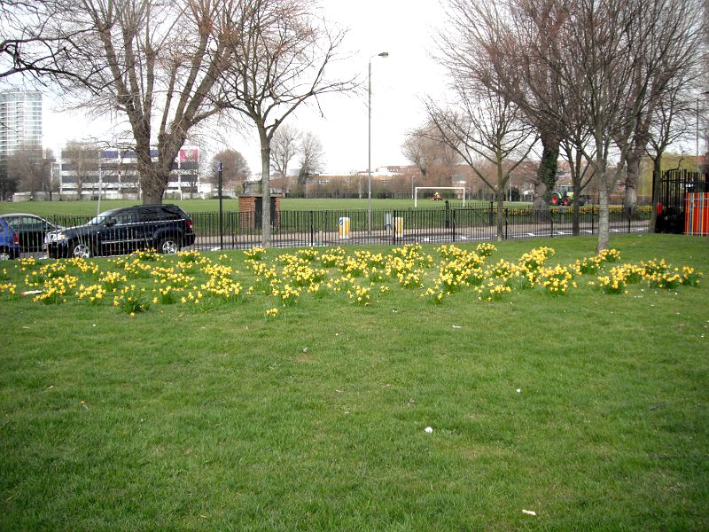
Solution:
[(155, 248), (177, 253), (194, 244), (194, 224), (176, 205), (140, 205), (105, 211), (89, 223), (51, 231), (44, 238), (52, 258), (128, 254)]

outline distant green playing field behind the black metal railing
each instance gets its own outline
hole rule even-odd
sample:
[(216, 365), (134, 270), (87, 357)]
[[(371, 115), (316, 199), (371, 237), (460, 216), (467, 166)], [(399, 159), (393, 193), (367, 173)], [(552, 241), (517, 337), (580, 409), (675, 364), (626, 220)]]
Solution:
[[(219, 200), (165, 200), (165, 203), (174, 203), (183, 208), (187, 213), (207, 213), (219, 211)], [(128, 207), (136, 205), (138, 201), (133, 200), (101, 200), (101, 210), (111, 208)], [(487, 207), (489, 201), (473, 200), (465, 202), (465, 205)], [(528, 203), (505, 203), (505, 205), (524, 205)], [(368, 200), (302, 200), (288, 199), (281, 200), (283, 210), (353, 210), (367, 209)], [(413, 208), (413, 200), (372, 200), (373, 209), (406, 209)], [(443, 201), (420, 200), (418, 207), (423, 208), (444, 208)], [(238, 200), (222, 200), (224, 211), (238, 211)], [(48, 215), (96, 215), (96, 201), (19, 201), (16, 203), (0, 202), (0, 215), (7, 213), (32, 213), (40, 216)]]

